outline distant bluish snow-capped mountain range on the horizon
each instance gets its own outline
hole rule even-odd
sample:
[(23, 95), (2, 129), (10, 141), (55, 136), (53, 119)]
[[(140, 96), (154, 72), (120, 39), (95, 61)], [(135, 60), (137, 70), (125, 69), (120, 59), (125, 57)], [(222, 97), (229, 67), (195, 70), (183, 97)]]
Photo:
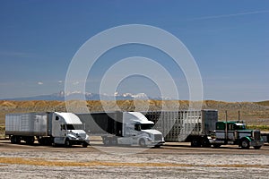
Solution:
[(58, 93), (50, 94), (50, 95), (39, 95), (34, 97), (26, 97), (26, 98), (5, 98), (5, 100), (75, 100), (75, 99), (86, 99), (86, 100), (126, 100), (126, 99), (169, 99), (169, 98), (152, 98), (148, 97), (145, 93), (123, 93), (119, 94), (116, 92), (114, 95), (108, 94), (97, 94), (81, 91), (73, 91), (73, 92), (65, 92), (60, 91)]

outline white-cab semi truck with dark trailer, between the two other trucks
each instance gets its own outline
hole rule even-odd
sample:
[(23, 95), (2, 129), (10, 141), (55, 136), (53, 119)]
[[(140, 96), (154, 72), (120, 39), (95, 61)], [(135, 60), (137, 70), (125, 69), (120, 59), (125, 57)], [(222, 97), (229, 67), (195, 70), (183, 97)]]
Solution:
[(103, 144), (160, 147), (162, 133), (152, 129), (154, 123), (139, 112), (76, 114), (92, 136), (101, 136)]

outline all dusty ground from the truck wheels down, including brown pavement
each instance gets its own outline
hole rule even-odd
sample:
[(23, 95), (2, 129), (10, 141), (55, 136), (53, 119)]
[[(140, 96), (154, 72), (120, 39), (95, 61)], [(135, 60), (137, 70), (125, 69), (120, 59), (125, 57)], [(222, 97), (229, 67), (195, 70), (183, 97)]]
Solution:
[[(107, 148), (121, 154), (101, 151)], [(15, 145), (0, 141), (0, 178), (267, 178), (269, 146), (262, 149), (195, 149), (168, 143), (161, 149), (84, 149)], [(129, 153), (128, 153), (129, 151)]]

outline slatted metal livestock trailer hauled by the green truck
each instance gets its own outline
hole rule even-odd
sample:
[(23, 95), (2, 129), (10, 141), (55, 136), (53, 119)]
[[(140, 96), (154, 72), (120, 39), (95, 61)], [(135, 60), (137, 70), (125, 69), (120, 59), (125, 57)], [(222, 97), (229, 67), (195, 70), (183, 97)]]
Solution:
[(165, 141), (190, 141), (192, 147), (208, 145), (207, 136), (215, 129), (218, 111), (213, 109), (149, 111), (143, 114), (152, 121), (154, 129)]

